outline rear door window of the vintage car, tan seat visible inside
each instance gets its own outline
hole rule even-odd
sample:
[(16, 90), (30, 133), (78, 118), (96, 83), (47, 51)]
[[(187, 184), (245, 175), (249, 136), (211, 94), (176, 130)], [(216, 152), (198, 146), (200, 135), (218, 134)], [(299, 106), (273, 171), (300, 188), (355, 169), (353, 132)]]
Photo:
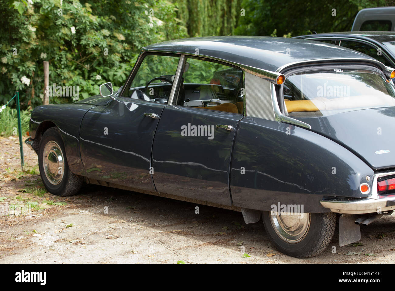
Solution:
[(178, 105), (244, 113), (244, 72), (240, 68), (187, 57)]

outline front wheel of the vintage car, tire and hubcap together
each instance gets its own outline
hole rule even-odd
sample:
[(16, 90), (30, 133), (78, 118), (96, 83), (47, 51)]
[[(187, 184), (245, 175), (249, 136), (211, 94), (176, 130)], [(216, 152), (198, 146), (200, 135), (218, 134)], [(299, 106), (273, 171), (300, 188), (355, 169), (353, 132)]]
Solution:
[[(51, 167), (45, 167), (45, 162), (43, 159), (45, 147), (48, 145), (55, 145), (54, 148), (56, 149), (56, 153), (61, 154), (63, 160), (63, 162), (58, 162), (57, 164), (54, 162), (51, 164), (55, 165), (52, 167), (52, 169), (55, 169), (55, 167), (61, 165), (61, 167), (58, 167), (59, 172), (55, 175), (62, 173), (62, 175), (59, 175), (59, 177), (54, 176), (58, 179), (56, 180), (53, 178), (53, 180), (55, 180), (53, 182), (51, 182), (50, 179), (53, 177), (52, 174), (55, 173), (56, 170), (51, 172), (49, 170)], [(83, 177), (71, 173), (65, 153), (66, 151), (64, 149), (63, 139), (60, 135), (59, 129), (57, 127), (51, 127), (45, 131), (41, 138), (40, 147), (38, 150), (38, 167), (40, 169), (41, 180), (43, 181), (45, 188), (47, 188), (48, 192), (57, 196), (73, 196), (79, 191), (83, 184)], [(54, 158), (55, 156), (56, 154), (52, 154), (52, 160), (56, 160), (56, 158)], [(51, 159), (46, 159), (47, 165), (50, 163), (49, 160)], [(45, 171), (44, 167), (47, 169), (47, 172)]]

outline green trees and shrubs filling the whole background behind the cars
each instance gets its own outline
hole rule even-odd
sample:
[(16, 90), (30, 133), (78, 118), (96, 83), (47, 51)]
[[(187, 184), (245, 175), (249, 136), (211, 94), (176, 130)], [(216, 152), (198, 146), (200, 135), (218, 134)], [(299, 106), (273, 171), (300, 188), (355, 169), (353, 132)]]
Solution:
[[(0, 105), (11, 99), (16, 90), (20, 91), (23, 109), (42, 103), (43, 61), (49, 62), (50, 86), (54, 83), (79, 86), (79, 99), (83, 99), (98, 94), (100, 84), (105, 82), (112, 82), (115, 90), (122, 86), (140, 48), (149, 44), (188, 36), (292, 37), (312, 31), (347, 31), (362, 8), (394, 3), (394, 0), (284, 3), (274, 0), (3, 0), (0, 2)], [(213, 72), (209, 73), (194, 78), (208, 80)], [(71, 96), (54, 96), (49, 100), (50, 103), (75, 102)], [(15, 102), (10, 103), (14, 105)], [(4, 127), (0, 127), (2, 131)]]

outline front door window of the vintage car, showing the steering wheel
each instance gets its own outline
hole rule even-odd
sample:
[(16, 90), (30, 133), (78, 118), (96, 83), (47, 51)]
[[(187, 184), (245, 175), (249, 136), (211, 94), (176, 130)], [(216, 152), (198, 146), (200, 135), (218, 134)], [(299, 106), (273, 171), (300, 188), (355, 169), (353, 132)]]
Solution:
[(166, 104), (178, 62), (179, 57), (175, 56), (145, 56), (126, 93), (127, 97)]

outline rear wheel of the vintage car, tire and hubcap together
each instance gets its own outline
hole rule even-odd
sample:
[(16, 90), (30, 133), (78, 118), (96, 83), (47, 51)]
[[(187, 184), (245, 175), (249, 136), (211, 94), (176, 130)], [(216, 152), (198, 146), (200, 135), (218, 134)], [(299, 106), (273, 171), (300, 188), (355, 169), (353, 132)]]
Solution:
[(318, 255), (335, 233), (336, 213), (278, 213), (262, 211), (270, 240), (286, 255), (307, 258)]

